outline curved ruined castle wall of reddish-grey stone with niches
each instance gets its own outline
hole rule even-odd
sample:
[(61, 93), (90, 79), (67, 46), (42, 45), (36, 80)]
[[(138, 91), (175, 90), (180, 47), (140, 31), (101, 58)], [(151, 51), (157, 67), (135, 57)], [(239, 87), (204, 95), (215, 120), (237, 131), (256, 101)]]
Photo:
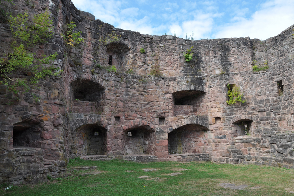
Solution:
[[(30, 50), (57, 52), (54, 65), (64, 71), (19, 93), (12, 105), (7, 103), (16, 95), (0, 85), (1, 182), (62, 175), (67, 160), (78, 156), (293, 168), (293, 26), (266, 41), (193, 41), (116, 29), (68, 0), (34, 1), (34, 8), (22, 0), (16, 4), (12, 13), (49, 9), (54, 36)], [(70, 21), (84, 38), (75, 48), (60, 36)], [(11, 39), (8, 27), (1, 24), (2, 53)], [(119, 41), (104, 44), (112, 31)], [(186, 62), (183, 53), (190, 48), (194, 58)], [(269, 68), (253, 72), (253, 60)], [(107, 71), (110, 64), (118, 71)], [(154, 67), (162, 76), (148, 75)], [(228, 84), (240, 87), (245, 103), (226, 103)], [(128, 138), (132, 131), (138, 138)], [(172, 140), (189, 148), (171, 154)]]

